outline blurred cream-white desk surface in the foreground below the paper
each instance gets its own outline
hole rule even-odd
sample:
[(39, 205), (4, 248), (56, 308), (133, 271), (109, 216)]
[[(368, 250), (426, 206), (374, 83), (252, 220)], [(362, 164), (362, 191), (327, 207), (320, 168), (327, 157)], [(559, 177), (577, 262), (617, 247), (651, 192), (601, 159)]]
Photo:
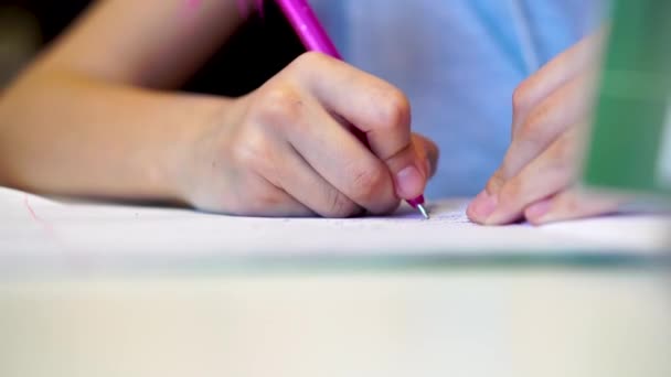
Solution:
[(642, 268), (0, 282), (2, 376), (671, 376)]

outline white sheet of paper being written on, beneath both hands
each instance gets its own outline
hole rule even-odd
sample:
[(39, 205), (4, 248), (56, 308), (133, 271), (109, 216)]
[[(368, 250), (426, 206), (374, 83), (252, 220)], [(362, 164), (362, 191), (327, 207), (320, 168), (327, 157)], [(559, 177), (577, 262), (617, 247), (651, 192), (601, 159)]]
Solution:
[(663, 250), (671, 219), (610, 216), (534, 227), (483, 227), (467, 201), (409, 207), (388, 217), (249, 218), (109, 203), (73, 203), (0, 187), (0, 266), (40, 260), (89, 262), (212, 257), (471, 256)]

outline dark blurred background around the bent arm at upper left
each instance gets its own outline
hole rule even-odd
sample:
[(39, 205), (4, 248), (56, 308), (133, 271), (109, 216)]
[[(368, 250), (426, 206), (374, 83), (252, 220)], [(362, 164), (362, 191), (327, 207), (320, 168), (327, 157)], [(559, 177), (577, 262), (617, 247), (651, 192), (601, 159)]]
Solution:
[[(95, 1), (0, 1), (0, 87)], [(266, 82), (303, 52), (278, 10), (266, 2), (180, 89), (239, 96)], [(252, 46), (252, 49), (249, 47)]]

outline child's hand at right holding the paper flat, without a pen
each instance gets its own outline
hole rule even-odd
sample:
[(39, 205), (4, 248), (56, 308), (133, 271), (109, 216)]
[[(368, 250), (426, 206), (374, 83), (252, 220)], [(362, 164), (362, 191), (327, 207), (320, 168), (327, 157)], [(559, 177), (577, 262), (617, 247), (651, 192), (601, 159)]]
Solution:
[(534, 224), (613, 211), (617, 201), (574, 186), (593, 105), (603, 35), (590, 36), (523, 82), (513, 96), (512, 142), (468, 208), (480, 224)]

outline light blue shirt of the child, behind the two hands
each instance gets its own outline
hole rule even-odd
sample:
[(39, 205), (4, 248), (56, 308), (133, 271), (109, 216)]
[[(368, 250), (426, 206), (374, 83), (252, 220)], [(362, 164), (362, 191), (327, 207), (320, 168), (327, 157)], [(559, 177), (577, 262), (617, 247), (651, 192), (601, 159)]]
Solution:
[(598, 0), (310, 0), (344, 58), (408, 96), (440, 147), (429, 197), (475, 195), (510, 142), (518, 84), (598, 23)]

